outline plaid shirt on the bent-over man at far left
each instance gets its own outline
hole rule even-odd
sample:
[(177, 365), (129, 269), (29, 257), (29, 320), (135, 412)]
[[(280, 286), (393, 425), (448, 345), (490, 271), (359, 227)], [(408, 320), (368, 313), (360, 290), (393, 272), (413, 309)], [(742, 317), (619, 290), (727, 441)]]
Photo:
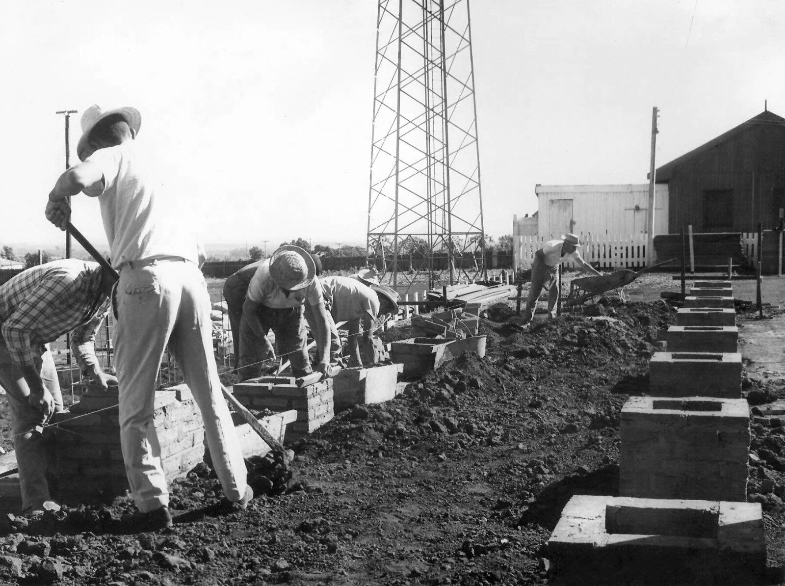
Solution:
[(0, 286), (0, 334), (14, 364), (34, 365), (42, 346), (71, 331), (82, 372), (97, 366), (96, 332), (108, 313), (96, 262), (64, 258), (16, 275)]

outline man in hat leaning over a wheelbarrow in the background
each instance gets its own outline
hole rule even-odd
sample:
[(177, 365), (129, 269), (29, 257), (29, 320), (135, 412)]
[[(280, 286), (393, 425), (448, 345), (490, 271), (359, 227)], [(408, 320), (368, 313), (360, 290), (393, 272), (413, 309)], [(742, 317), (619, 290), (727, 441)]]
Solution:
[(581, 258), (578, 247), (583, 243), (575, 234), (563, 234), (559, 240), (548, 240), (535, 252), (535, 260), (531, 263), (531, 287), (526, 300), (524, 322), (531, 321), (542, 287), (548, 284), (548, 317), (553, 317), (553, 307), (559, 298), (557, 283), (559, 266), (565, 260), (574, 260), (586, 273), (600, 276), (597, 269)]

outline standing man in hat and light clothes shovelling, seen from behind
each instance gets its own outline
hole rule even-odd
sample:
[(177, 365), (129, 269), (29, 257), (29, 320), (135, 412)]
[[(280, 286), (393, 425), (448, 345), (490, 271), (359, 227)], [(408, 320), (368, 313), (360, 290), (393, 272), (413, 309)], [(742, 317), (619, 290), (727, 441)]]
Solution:
[(205, 427), (213, 467), (229, 503), (245, 508), (254, 496), (232, 416), (221, 394), (213, 354), (210, 295), (199, 270), (199, 250), (177, 214), (162, 206), (171, 194), (155, 161), (135, 140), (135, 108), (82, 115), (77, 154), (82, 163), (57, 179), (46, 218), (65, 229), (68, 196), (97, 197), (117, 285), (115, 357), (119, 381), (122, 458), (139, 514), (133, 529), (172, 526), (169, 491), (153, 425), (155, 377), (167, 346), (177, 359)]

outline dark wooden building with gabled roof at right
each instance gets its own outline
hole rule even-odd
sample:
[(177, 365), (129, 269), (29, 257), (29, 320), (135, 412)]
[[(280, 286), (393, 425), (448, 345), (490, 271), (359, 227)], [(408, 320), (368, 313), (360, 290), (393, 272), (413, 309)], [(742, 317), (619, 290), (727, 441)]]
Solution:
[(785, 119), (764, 111), (659, 167), (670, 197), (668, 231), (757, 232), (785, 207)]

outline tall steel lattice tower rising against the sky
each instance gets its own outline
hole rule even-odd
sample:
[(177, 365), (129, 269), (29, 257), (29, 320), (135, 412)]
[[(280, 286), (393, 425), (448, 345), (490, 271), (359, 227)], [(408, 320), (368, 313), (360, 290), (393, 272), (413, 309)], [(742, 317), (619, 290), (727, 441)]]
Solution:
[(379, 0), (368, 262), (433, 287), (484, 274), (484, 245), (469, 0)]

